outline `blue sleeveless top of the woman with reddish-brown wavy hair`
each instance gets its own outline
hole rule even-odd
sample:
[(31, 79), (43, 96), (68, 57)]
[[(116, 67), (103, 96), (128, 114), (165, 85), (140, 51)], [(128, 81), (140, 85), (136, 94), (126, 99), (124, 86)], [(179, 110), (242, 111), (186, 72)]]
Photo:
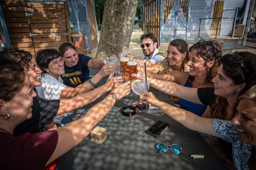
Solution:
[[(184, 86), (192, 88), (192, 84), (190, 84), (188, 80), (186, 81), (186, 84)], [(187, 100), (183, 100), (182, 98), (180, 98), (179, 102), (180, 102), (181, 109), (190, 111), (198, 116), (202, 116), (202, 114), (207, 108), (207, 105), (192, 103)]]

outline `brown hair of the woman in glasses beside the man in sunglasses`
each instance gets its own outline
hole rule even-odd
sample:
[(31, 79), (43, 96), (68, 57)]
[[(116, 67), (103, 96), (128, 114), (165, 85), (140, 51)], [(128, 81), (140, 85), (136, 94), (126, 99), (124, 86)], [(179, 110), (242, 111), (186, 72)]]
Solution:
[(184, 60), (182, 61), (182, 64), (180, 66), (180, 68), (178, 69), (178, 72), (185, 72), (186, 68), (185, 68), (185, 64), (188, 62), (188, 59), (189, 59), (189, 53), (188, 53), (188, 44), (186, 41), (182, 40), (182, 39), (175, 39), (175, 40), (172, 40), (170, 42), (171, 46), (175, 46), (176, 49), (180, 52), (180, 53), (184, 53), (186, 52), (186, 57), (184, 58)]

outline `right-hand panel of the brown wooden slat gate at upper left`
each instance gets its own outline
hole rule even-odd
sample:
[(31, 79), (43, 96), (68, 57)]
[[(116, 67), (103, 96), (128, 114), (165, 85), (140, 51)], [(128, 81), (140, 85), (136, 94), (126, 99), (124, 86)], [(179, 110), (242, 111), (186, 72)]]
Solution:
[(34, 51), (41, 49), (56, 49), (64, 42), (71, 43), (67, 2), (64, 4), (48, 4), (26, 2)]

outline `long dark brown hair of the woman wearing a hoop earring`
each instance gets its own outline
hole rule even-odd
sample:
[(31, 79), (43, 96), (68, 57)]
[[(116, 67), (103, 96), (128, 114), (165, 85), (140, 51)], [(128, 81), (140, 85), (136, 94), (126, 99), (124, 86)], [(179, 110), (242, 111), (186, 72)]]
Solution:
[[(256, 85), (256, 55), (250, 52), (240, 52), (239, 56), (244, 59), (244, 65), (246, 67), (246, 73), (242, 72), (239, 63), (234, 62), (234, 58), (237, 56), (226, 54), (221, 59), (220, 62), (223, 65), (223, 74), (229, 77), (233, 84), (239, 85), (246, 83), (245, 88), (238, 93), (238, 96), (245, 94), (245, 92), (252, 86)], [(238, 106), (238, 99), (235, 104), (233, 104), (232, 115), (230, 119), (236, 114), (236, 107)], [(218, 96), (216, 102), (213, 104), (211, 109), (211, 117), (215, 119), (222, 119), (227, 115), (226, 107), (228, 106), (228, 100), (224, 97)]]

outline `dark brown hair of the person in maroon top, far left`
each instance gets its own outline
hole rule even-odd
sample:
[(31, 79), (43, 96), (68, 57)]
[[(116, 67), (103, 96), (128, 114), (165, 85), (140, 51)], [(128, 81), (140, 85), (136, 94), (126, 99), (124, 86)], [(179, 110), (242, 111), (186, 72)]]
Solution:
[(13, 58), (0, 55), (0, 98), (11, 101), (23, 86), (26, 78), (24, 68)]

